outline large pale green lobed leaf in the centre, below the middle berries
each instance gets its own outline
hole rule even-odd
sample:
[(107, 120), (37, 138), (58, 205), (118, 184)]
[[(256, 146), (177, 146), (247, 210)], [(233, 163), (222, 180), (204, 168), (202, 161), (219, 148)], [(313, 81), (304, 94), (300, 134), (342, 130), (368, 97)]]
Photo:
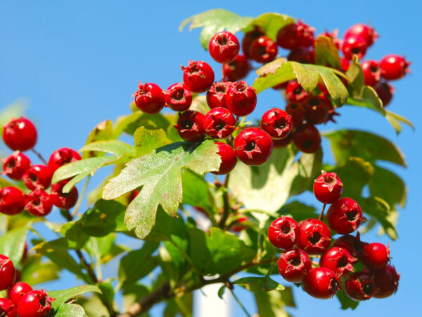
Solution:
[(182, 198), (181, 169), (202, 175), (218, 170), (220, 162), (217, 146), (211, 140), (168, 144), (127, 163), (120, 175), (104, 187), (103, 198), (115, 199), (143, 186), (124, 218), (127, 228), (135, 228), (136, 235), (143, 239), (153, 228), (159, 204), (169, 215), (177, 214)]

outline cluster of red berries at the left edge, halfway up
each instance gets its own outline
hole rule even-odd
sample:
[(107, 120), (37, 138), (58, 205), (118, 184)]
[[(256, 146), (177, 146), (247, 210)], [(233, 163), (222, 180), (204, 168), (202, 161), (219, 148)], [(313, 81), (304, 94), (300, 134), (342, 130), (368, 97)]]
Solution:
[[(76, 151), (63, 147), (53, 151), (49, 162), (32, 165), (23, 151), (33, 149), (37, 143), (37, 129), (27, 118), (12, 119), (4, 125), (4, 143), (12, 149), (13, 154), (3, 159), (3, 175), (12, 180), (23, 180), (30, 189), (25, 194), (16, 187), (4, 187), (0, 190), (0, 212), (15, 215), (26, 210), (34, 216), (46, 216), (54, 206), (60, 209), (71, 209), (75, 206), (78, 193), (76, 187), (65, 194), (62, 189), (68, 180), (62, 180), (51, 186), (53, 173), (67, 163), (81, 159)], [(46, 189), (51, 187), (50, 194)]]

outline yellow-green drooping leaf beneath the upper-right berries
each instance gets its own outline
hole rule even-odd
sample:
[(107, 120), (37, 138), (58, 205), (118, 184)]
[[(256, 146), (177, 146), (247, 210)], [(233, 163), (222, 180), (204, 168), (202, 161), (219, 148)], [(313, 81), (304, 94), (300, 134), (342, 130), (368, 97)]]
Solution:
[(259, 68), (257, 75), (259, 77), (253, 82), (253, 87), (258, 93), (282, 82), (296, 79), (307, 92), (314, 90), (319, 82), (324, 84), (336, 104), (344, 104), (347, 100), (347, 89), (338, 77), (345, 75), (334, 68), (301, 64), (279, 58)]

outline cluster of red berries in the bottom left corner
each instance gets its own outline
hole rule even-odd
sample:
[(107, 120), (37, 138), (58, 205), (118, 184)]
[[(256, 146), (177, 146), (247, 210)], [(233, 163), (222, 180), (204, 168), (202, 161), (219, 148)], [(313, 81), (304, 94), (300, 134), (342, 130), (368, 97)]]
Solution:
[(27, 283), (18, 282), (17, 273), (11, 259), (0, 254), (0, 290), (8, 290), (7, 298), (0, 298), (0, 316), (47, 316), (55, 299), (44, 290), (32, 290)]

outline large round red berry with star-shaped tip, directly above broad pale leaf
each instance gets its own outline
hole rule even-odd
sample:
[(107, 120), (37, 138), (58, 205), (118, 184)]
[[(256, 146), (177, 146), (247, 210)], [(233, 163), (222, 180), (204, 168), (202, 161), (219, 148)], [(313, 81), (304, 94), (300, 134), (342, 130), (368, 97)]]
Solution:
[(246, 165), (260, 166), (271, 156), (273, 142), (264, 130), (246, 128), (234, 139), (234, 149), (238, 158)]

